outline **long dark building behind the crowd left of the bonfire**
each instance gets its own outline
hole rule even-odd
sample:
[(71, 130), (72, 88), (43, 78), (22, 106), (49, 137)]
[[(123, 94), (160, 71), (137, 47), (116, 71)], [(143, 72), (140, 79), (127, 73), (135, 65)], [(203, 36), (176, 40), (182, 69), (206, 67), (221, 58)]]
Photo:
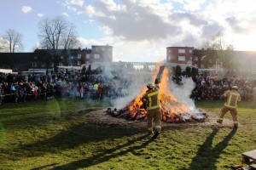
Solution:
[(80, 66), (95, 62), (112, 62), (113, 47), (92, 46), (91, 49), (36, 49), (33, 53), (0, 53), (0, 68), (15, 72), (53, 69), (57, 66)]

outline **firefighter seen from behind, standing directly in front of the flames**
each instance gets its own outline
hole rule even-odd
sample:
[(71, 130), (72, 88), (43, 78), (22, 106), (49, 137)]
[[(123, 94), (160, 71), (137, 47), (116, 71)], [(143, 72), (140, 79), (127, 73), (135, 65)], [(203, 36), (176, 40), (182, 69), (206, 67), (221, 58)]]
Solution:
[(160, 111), (159, 86), (153, 82), (148, 82), (148, 91), (143, 96), (143, 107), (148, 111), (148, 135), (153, 133), (153, 121), (155, 123), (155, 133), (152, 139), (155, 139), (161, 132), (162, 114)]

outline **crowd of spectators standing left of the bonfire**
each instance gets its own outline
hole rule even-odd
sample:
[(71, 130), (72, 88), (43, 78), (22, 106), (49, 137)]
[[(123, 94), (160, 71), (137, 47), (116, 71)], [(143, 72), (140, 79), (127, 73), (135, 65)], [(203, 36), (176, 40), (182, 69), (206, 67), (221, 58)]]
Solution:
[(27, 100), (116, 99), (125, 96), (129, 80), (123, 77), (105, 77), (103, 74), (58, 73), (45, 75), (12, 75), (0, 73), (0, 105)]

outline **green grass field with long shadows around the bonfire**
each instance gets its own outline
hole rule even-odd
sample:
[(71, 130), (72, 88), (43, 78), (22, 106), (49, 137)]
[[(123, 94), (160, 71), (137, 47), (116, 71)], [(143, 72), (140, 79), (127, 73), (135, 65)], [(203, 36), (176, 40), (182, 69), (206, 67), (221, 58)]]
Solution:
[[(216, 114), (223, 103), (197, 107)], [(256, 149), (256, 109), (241, 103), (241, 127), (165, 128), (148, 140), (146, 127), (86, 122), (106, 102), (52, 99), (0, 106), (0, 169), (230, 169)], [(231, 119), (230, 114), (225, 119)], [(243, 164), (244, 165), (244, 164)]]

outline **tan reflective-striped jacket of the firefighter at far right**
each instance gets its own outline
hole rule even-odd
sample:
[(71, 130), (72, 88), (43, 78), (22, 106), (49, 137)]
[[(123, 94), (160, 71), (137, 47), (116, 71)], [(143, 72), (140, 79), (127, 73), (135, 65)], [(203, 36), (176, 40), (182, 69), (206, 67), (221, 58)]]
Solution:
[(227, 100), (224, 103), (224, 106), (231, 109), (236, 109), (237, 102), (241, 100), (240, 94), (238, 94), (236, 91), (228, 90), (225, 92), (225, 95), (227, 96)]

